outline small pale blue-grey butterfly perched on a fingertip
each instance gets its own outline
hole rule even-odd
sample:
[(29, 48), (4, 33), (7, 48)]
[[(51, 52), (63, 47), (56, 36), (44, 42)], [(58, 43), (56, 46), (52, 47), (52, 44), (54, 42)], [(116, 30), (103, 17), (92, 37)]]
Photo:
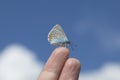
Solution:
[(67, 47), (70, 44), (70, 41), (59, 24), (56, 24), (48, 33), (48, 41), (51, 45), (61, 47)]

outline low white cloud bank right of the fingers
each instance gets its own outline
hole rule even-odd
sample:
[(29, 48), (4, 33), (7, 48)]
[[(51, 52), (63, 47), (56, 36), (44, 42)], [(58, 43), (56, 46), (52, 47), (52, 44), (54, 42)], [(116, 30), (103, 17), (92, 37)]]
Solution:
[(81, 73), (79, 80), (120, 80), (120, 64), (107, 63), (101, 69)]

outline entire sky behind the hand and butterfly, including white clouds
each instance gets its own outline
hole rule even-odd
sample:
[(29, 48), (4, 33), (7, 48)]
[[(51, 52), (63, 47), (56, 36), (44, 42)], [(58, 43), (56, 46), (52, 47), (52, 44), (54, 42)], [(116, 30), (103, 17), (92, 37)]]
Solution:
[(80, 80), (119, 80), (119, 3), (1, 0), (0, 80), (37, 79), (55, 48), (49, 45), (47, 35), (57, 23), (73, 44), (70, 57), (82, 64)]

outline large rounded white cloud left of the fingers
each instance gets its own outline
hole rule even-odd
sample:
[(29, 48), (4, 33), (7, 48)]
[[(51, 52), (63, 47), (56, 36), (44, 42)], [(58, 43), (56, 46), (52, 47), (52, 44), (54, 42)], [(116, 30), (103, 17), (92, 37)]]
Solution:
[(21, 45), (11, 45), (0, 53), (0, 80), (37, 80), (42, 62)]

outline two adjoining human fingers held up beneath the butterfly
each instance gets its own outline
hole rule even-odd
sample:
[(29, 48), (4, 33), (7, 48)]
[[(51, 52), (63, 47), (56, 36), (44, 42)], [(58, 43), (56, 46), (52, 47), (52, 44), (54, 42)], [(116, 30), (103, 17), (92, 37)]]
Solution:
[(78, 80), (80, 62), (69, 58), (69, 49), (56, 48), (46, 62), (38, 80)]

